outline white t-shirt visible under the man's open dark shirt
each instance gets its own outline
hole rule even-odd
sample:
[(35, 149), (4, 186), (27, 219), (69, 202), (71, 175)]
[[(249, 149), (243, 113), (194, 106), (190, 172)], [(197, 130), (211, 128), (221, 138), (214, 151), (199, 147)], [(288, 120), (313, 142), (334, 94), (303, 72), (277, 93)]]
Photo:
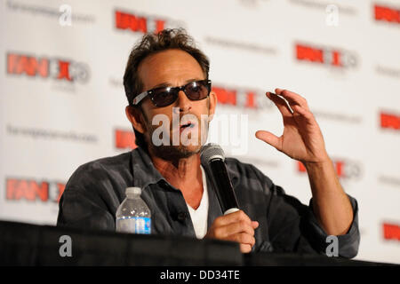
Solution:
[(203, 177), (203, 196), (200, 201), (199, 207), (195, 210), (186, 203), (188, 206), (188, 211), (190, 213), (190, 217), (192, 218), (193, 226), (195, 227), (196, 238), (203, 239), (204, 235), (207, 233), (207, 219), (208, 219), (208, 192), (207, 192), (207, 183), (205, 180), (205, 172), (203, 167), (200, 165), (200, 169), (202, 169), (202, 177)]

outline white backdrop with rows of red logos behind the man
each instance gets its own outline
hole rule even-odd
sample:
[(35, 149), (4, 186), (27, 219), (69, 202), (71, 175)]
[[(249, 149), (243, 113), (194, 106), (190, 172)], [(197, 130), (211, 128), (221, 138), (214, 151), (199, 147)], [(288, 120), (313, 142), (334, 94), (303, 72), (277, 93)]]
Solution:
[(399, 1), (2, 0), (0, 13), (1, 219), (54, 225), (79, 165), (134, 146), (129, 52), (144, 31), (183, 27), (211, 59), (217, 115), (247, 115), (245, 151), (228, 154), (308, 204), (299, 164), (254, 138), (283, 130), (265, 91), (299, 93), (359, 203), (356, 259), (400, 264)]

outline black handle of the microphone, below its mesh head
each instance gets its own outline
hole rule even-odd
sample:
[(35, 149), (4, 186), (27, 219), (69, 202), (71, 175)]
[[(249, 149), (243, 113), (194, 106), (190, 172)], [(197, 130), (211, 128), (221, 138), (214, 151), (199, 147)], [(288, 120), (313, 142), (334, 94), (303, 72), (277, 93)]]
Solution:
[(224, 215), (239, 210), (232, 183), (228, 176), (227, 166), (221, 159), (214, 159), (210, 162), (212, 177), (217, 189), (217, 197), (220, 200), (220, 207)]

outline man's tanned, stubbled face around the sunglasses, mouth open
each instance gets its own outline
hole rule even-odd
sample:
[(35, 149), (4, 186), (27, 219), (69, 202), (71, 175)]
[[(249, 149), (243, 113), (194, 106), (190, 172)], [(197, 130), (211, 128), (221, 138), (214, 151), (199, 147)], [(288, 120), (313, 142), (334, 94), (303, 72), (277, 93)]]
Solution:
[[(140, 63), (138, 71), (143, 83), (142, 91), (157, 87), (178, 87), (205, 79), (204, 72), (196, 59), (180, 50), (161, 51), (151, 55)], [(140, 132), (143, 132), (148, 142), (150, 153), (165, 160), (186, 158), (198, 153), (202, 142), (205, 142), (204, 137), (202, 140), (202, 135), (206, 137), (206, 130), (208, 130), (208, 121), (205, 122), (204, 117), (214, 114), (215, 105), (216, 96), (213, 92), (207, 99), (190, 100), (183, 91), (180, 91), (175, 102), (163, 107), (154, 106), (149, 98), (143, 99), (140, 106), (144, 114), (141, 122), (143, 131)], [(169, 123), (165, 123), (164, 120), (161, 126), (152, 125), (156, 115), (166, 118), (166, 122)], [(172, 122), (172, 120), (175, 121)], [(190, 127), (187, 126), (188, 122), (190, 122)], [(158, 135), (161, 130), (159, 127), (164, 128), (164, 133), (169, 134), (168, 138), (164, 138), (161, 134), (164, 141), (169, 140), (169, 146), (155, 146), (157, 142), (159, 145), (161, 139)]]

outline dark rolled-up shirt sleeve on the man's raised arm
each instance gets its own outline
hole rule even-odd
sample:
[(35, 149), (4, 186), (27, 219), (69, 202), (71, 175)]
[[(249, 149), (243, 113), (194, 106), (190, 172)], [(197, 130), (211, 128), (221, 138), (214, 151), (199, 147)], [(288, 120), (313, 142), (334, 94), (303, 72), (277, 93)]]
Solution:
[(304, 205), (295, 197), (284, 193), (282, 187), (272, 184), (270, 180), (268, 184), (269, 237), (275, 250), (326, 255), (328, 250), (334, 252), (334, 249), (331, 251), (331, 245), (336, 245), (333, 242), (337, 240), (336, 251), (339, 256), (356, 256), (360, 242), (356, 199), (348, 195), (353, 208), (353, 221), (348, 233), (335, 236), (337, 239), (328, 238), (328, 234), (316, 220), (312, 199), (308, 206)]

